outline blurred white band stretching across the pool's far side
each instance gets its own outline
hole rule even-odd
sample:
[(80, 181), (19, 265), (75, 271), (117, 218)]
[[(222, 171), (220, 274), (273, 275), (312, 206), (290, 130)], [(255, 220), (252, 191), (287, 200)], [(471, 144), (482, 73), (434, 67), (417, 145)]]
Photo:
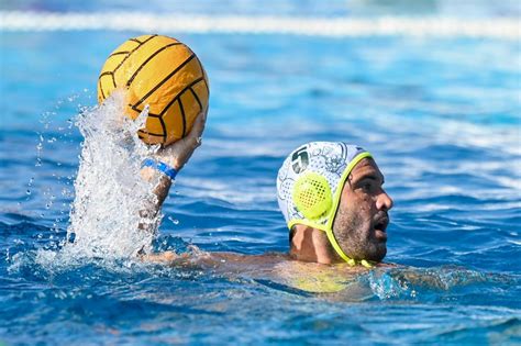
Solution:
[(0, 11), (2, 31), (140, 31), (173, 33), (292, 34), (330, 37), (440, 36), (519, 40), (518, 18), (297, 18), (137, 12)]

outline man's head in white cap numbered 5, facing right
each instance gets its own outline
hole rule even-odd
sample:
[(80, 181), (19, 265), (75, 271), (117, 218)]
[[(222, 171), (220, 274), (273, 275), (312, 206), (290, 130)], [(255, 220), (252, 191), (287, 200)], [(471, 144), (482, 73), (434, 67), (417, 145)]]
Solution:
[[(318, 241), (308, 239), (304, 247), (329, 252), (331, 261), (380, 261), (387, 252), (387, 211), (392, 208), (383, 183), (378, 166), (363, 148), (313, 142), (285, 160), (277, 179), (278, 202), (291, 235), (302, 230), (301, 239), (303, 230), (314, 232)], [(311, 260), (319, 261), (317, 256)]]

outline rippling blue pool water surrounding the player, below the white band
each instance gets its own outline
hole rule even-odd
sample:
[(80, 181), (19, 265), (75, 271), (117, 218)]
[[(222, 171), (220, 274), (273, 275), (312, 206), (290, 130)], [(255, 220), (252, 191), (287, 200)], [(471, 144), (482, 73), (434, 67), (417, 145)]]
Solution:
[(108, 54), (141, 33), (0, 34), (0, 343), (521, 343), (519, 41), (163, 33), (204, 64), (211, 105), (155, 248), (287, 252), (284, 158), (355, 143), (386, 176), (386, 261), (403, 267), (357, 276), (351, 294), (64, 250), (78, 114), (96, 112)]

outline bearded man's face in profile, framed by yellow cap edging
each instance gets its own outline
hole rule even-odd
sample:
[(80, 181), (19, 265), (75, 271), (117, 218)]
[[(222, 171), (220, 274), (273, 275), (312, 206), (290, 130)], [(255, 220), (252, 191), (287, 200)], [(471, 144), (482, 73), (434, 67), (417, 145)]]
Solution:
[(345, 181), (333, 233), (351, 258), (381, 261), (386, 256), (392, 200), (383, 185), (384, 176), (372, 158), (359, 161)]

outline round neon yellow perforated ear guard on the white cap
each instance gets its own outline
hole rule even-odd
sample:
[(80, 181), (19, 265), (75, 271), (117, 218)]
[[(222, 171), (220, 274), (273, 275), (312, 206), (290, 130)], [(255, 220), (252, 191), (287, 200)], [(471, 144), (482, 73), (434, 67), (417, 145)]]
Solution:
[(310, 221), (319, 220), (333, 205), (328, 180), (314, 171), (301, 175), (295, 181), (292, 199), (295, 207)]

